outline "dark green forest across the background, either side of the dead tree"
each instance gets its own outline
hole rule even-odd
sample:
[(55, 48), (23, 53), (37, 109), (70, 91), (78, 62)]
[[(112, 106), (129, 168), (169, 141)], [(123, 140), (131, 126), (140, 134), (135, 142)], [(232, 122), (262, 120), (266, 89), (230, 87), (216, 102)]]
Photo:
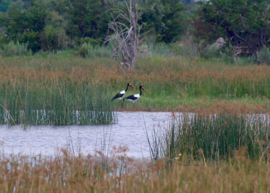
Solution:
[[(109, 7), (123, 9), (125, 4), (120, 0), (2, 0), (0, 54), (73, 49), (85, 57), (91, 47), (110, 46), (110, 42), (104, 43), (112, 35), (108, 30), (112, 20)], [(163, 46), (163, 52), (166, 47), (181, 55), (233, 56), (231, 61), (254, 57), (251, 61), (255, 63), (270, 62), (268, 1), (144, 0), (138, 9), (143, 10), (138, 21), (143, 24), (142, 33), (148, 32), (142, 46), (150, 52)], [(220, 37), (225, 46), (209, 46)], [(7, 50), (11, 42), (27, 49), (17, 48), (12, 53)], [(110, 55), (105, 51), (100, 54)]]

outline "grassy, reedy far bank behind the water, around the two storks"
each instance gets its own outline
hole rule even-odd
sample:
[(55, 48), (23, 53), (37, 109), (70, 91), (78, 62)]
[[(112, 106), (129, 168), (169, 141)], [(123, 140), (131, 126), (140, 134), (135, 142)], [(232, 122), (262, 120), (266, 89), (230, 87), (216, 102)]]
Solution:
[[(145, 57), (138, 60), (135, 72), (125, 74), (111, 58), (84, 59), (62, 52), (2, 58), (0, 70), (0, 114), (6, 117), (1, 123), (112, 123), (110, 114), (119, 110), (120, 103), (110, 99), (127, 82), (135, 89), (129, 89), (126, 96), (139, 93), (140, 85), (147, 93), (134, 104), (125, 102), (124, 111), (268, 113), (270, 109), (270, 68), (264, 65)], [(76, 117), (77, 110), (83, 112), (80, 117)], [(108, 111), (104, 120), (94, 120), (104, 110)]]

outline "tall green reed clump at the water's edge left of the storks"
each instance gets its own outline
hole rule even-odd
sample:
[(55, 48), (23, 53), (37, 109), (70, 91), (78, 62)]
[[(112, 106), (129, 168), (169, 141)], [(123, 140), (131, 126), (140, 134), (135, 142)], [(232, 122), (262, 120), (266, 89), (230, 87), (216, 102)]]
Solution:
[(1, 124), (115, 123), (116, 115), (104, 87), (59, 72), (32, 73), (21, 70), (1, 81)]

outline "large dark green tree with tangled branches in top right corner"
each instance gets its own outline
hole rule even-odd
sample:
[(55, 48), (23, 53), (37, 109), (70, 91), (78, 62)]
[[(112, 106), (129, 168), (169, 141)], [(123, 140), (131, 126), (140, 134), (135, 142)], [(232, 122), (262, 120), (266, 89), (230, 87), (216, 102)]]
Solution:
[(270, 41), (269, 1), (209, 0), (199, 2), (195, 36), (214, 42), (227, 40), (235, 55), (253, 55)]

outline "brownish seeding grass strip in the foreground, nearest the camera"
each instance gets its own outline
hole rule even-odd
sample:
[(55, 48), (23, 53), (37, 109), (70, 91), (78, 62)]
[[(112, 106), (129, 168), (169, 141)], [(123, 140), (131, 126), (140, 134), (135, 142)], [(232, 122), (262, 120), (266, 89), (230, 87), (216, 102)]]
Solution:
[(115, 150), (118, 156), (107, 162), (101, 154), (73, 157), (65, 150), (56, 157), (1, 155), (0, 191), (269, 192), (269, 164), (237, 154), (231, 162), (176, 161), (168, 166), (163, 159), (154, 164), (133, 160), (123, 151)]

